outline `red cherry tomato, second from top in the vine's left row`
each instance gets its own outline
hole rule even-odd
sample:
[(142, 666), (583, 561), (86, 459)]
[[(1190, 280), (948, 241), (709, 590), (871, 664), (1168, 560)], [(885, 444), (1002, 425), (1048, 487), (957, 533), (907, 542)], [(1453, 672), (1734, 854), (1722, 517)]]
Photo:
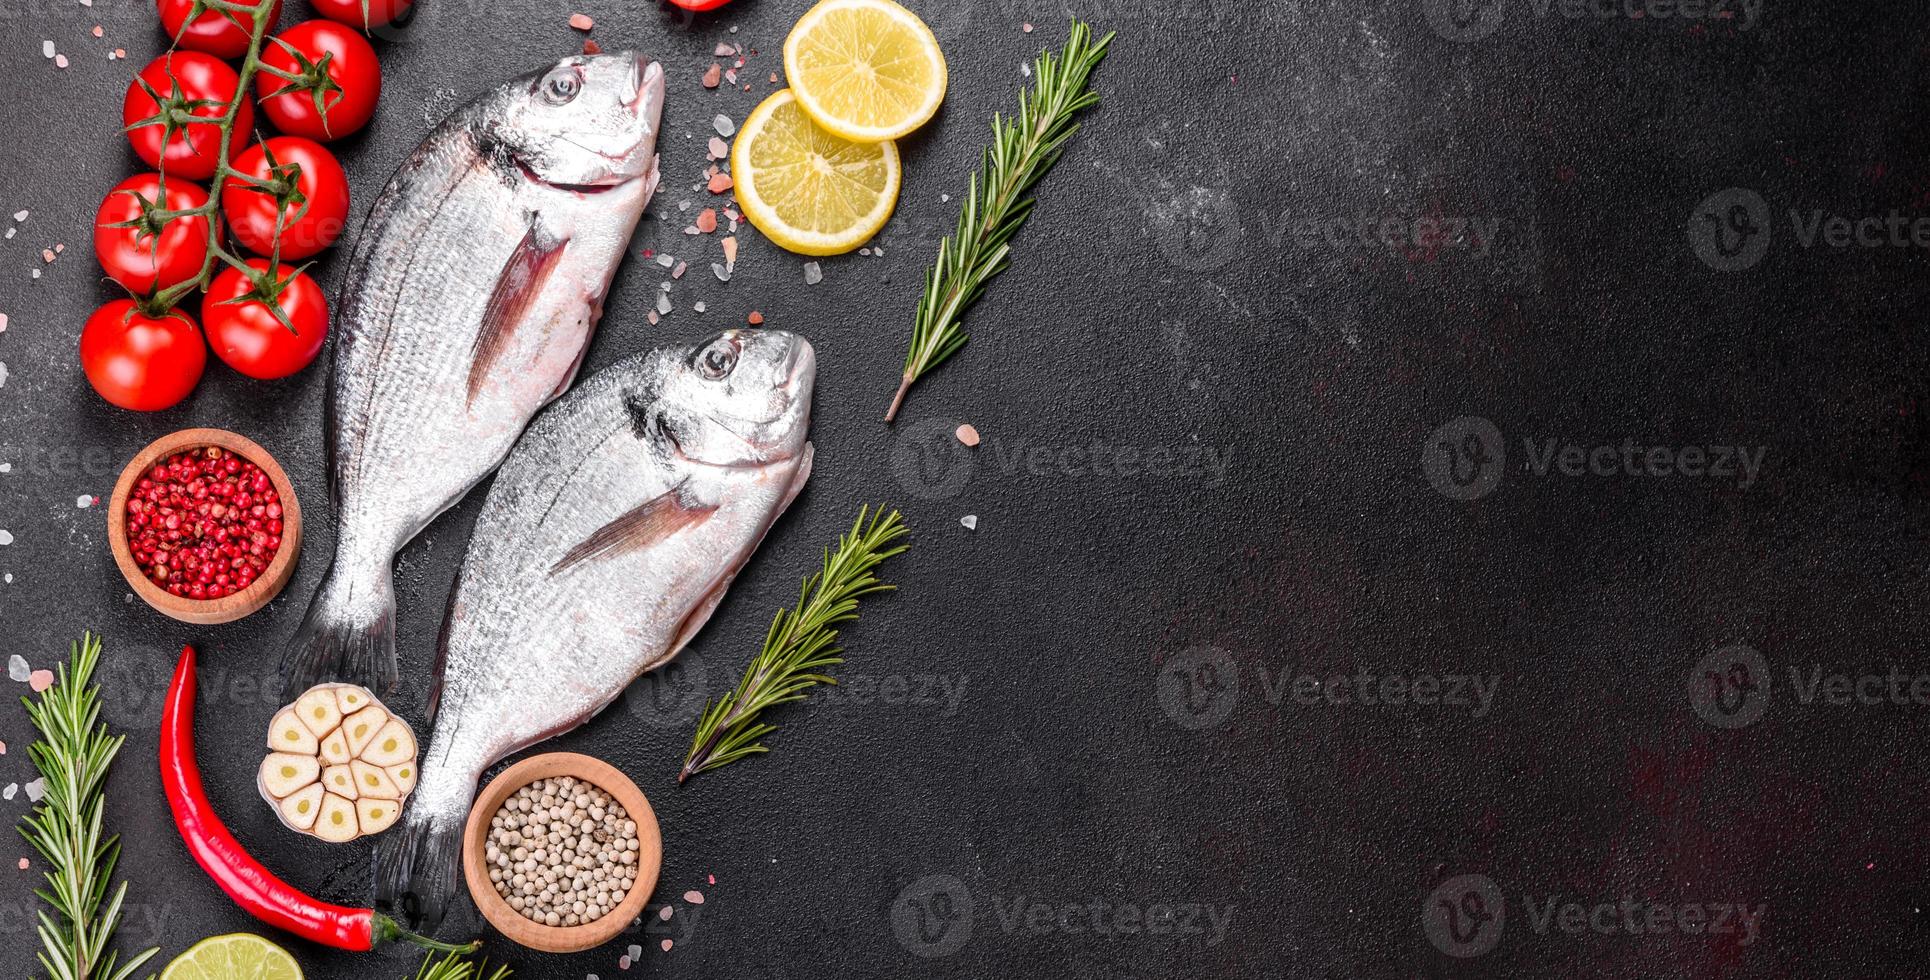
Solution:
[[(241, 87), (235, 69), (228, 68), (220, 58), (201, 54), (199, 50), (178, 50), (154, 58), (141, 69), (141, 81), (152, 87), (170, 110), (181, 108), (201, 120), (220, 120), (226, 104), (234, 100), (235, 89)], [(133, 125), (162, 114), (162, 102), (154, 102), (152, 96), (141, 91), (141, 81), (127, 85), (127, 96), (122, 100), (122, 125)], [(179, 102), (174, 98), (176, 87), (181, 89)], [(214, 104), (193, 104), (201, 100), (212, 100)], [(235, 125), (228, 133), (230, 154), (247, 143), (253, 127), (255, 106), (243, 98), (241, 108), (235, 112)], [(162, 143), (164, 137), (166, 145)], [(208, 179), (220, 162), (222, 131), (214, 123), (187, 123), (166, 133), (156, 123), (127, 129), (127, 141), (133, 143), (133, 152), (147, 160), (147, 166), (170, 177)]]

